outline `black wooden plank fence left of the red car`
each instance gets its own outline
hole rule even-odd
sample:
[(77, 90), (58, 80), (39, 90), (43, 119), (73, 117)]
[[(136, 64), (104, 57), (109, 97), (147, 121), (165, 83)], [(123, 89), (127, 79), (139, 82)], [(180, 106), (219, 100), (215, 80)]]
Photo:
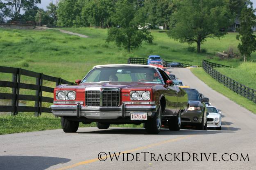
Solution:
[[(43, 92), (53, 93), (54, 88), (43, 86), (43, 80), (55, 82), (56, 86), (59, 84), (74, 84), (58, 77), (44, 75), (43, 73), (36, 73), (22, 68), (0, 66), (0, 73), (11, 73), (12, 81), (0, 80), (0, 87), (12, 88), (12, 93), (0, 93), (0, 99), (10, 99), (11, 106), (0, 106), (0, 112), (12, 112), (12, 115), (17, 115), (18, 112), (35, 112), (35, 116), (41, 115), (42, 112), (51, 113), (50, 108), (42, 107), (42, 102), (53, 103), (52, 97), (43, 97)], [(26, 84), (20, 82), (20, 75), (26, 75), (36, 78), (36, 84)], [(35, 95), (22, 95), (20, 88), (35, 90)], [(35, 101), (33, 106), (19, 106), (19, 101)]]

